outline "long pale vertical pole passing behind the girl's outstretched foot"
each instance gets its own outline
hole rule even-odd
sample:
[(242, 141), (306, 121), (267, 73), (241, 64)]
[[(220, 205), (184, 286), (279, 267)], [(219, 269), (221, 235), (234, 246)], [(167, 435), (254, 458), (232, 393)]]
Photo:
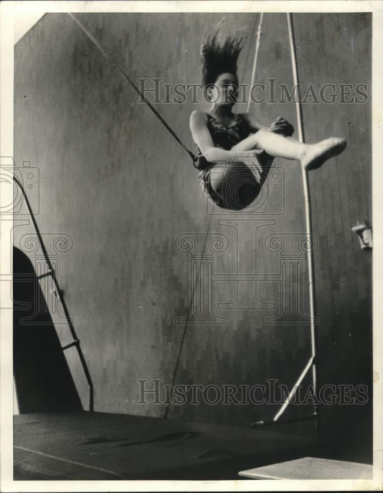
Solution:
[[(302, 119), (302, 106), (300, 104), (300, 91), (299, 91), (299, 78), (298, 78), (298, 66), (297, 59), (295, 56), (295, 38), (293, 29), (293, 19), (292, 14), (287, 13), (287, 24), (288, 24), (288, 34), (290, 41), (291, 50), (291, 64), (293, 70), (294, 87), (295, 87), (295, 97), (296, 97), (296, 111), (297, 111), (297, 121), (298, 121), (298, 135), (299, 141), (305, 141), (305, 134), (303, 130), (303, 119)], [(307, 238), (307, 261), (308, 261), (308, 275), (309, 275), (309, 298), (310, 298), (310, 334), (311, 334), (311, 352), (313, 358), (313, 390), (314, 395), (317, 395), (317, 333), (315, 325), (315, 293), (314, 293), (314, 264), (313, 264), (313, 245), (312, 245), (312, 221), (311, 221), (311, 202), (310, 202), (310, 188), (309, 179), (306, 168), (302, 168), (302, 179), (303, 179), (303, 193), (305, 199), (305, 215), (306, 215), (306, 238)], [(318, 420), (318, 410), (317, 406), (314, 405), (314, 414), (316, 414), (316, 435), (319, 436), (319, 420)]]

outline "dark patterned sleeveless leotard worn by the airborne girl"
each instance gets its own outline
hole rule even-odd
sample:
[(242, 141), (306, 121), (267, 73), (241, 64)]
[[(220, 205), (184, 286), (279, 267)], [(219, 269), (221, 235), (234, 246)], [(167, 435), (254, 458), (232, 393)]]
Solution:
[[(243, 141), (248, 137), (253, 131), (248, 127), (244, 118), (238, 114), (237, 123), (231, 127), (225, 127), (221, 122), (216, 120), (213, 116), (208, 116), (208, 129), (213, 141), (214, 147), (219, 147), (220, 149), (230, 150), (238, 142)], [(223, 200), (214, 192), (210, 183), (210, 173), (214, 167), (214, 163), (210, 163), (202, 155), (200, 148), (198, 147), (198, 169), (200, 170), (199, 178), (202, 189), (207, 195), (210, 202), (216, 204), (219, 207), (226, 208)], [(266, 155), (266, 153), (263, 153)], [(262, 159), (258, 158), (261, 164), (264, 163), (263, 155)], [(267, 155), (268, 156), (268, 155)], [(268, 156), (270, 158), (270, 156)]]

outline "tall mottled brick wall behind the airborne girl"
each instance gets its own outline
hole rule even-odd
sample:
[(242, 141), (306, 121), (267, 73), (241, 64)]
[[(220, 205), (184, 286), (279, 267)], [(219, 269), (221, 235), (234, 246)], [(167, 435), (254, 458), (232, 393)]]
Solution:
[[(133, 80), (197, 84), (202, 35), (222, 15), (77, 17)], [(259, 15), (228, 19), (233, 28), (247, 25), (238, 73), (249, 83)], [(319, 93), (326, 83), (336, 84), (338, 99), (339, 84), (367, 84), (369, 91), (369, 14), (296, 14), (294, 27), (303, 93), (309, 84)], [(256, 82), (268, 87), (266, 79), (274, 78), (277, 88), (287, 84), (291, 91), (286, 16), (265, 14), (262, 31)], [(60, 253), (57, 274), (95, 384), (95, 409), (241, 426), (270, 419), (278, 406), (139, 404), (137, 380), (148, 380), (150, 388), (153, 379), (218, 387), (267, 379), (294, 384), (311, 351), (300, 166), (276, 160), (268, 186), (248, 210), (213, 209), (189, 156), (137, 101), (66, 14), (46, 14), (15, 47), (15, 161), (39, 169), (42, 232), (64, 233), (73, 242)], [(155, 106), (195, 151), (188, 120), (197, 106), (190, 100)], [(282, 115), (296, 126), (293, 103), (253, 104), (251, 111), (265, 125)], [(341, 156), (310, 173), (320, 383), (370, 387), (371, 252), (351, 232), (371, 219), (370, 101), (308, 98), (303, 120), (308, 142), (348, 139)], [(14, 232), (21, 247), (31, 229), (15, 223)], [(196, 286), (193, 265), (202, 283)], [(292, 313), (283, 312), (286, 265), (302, 295)], [(257, 282), (246, 278), (251, 275)], [(201, 285), (212, 286), (213, 310), (198, 305), (188, 317)], [(74, 357), (70, 368), (86, 401)], [(305, 388), (309, 383), (307, 377)], [(307, 406), (293, 406), (286, 417), (306, 413)], [(323, 406), (322, 427), (344, 437), (353, 423), (356, 436), (356, 420), (366, 436), (370, 418), (368, 406)]]

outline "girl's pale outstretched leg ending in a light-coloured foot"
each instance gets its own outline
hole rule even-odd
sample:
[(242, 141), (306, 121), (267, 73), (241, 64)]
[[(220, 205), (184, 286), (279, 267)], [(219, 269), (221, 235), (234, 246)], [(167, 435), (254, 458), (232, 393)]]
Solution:
[(304, 144), (267, 130), (259, 130), (233, 146), (232, 150), (265, 149), (272, 156), (298, 159), (307, 169), (314, 169), (318, 168), (330, 157), (340, 154), (345, 147), (346, 140), (335, 137), (316, 144)]

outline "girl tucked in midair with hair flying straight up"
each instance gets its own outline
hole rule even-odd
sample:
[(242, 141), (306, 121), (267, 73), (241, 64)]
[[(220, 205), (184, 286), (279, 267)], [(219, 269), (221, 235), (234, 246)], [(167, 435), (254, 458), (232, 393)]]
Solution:
[(346, 140), (336, 137), (314, 144), (291, 139), (294, 129), (281, 117), (266, 128), (251, 113), (234, 113), (241, 49), (238, 34), (221, 39), (219, 27), (208, 29), (201, 59), (204, 94), (211, 106), (190, 116), (203, 189), (214, 204), (237, 210), (256, 198), (273, 156), (299, 160), (307, 170), (313, 170), (346, 147)]

